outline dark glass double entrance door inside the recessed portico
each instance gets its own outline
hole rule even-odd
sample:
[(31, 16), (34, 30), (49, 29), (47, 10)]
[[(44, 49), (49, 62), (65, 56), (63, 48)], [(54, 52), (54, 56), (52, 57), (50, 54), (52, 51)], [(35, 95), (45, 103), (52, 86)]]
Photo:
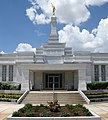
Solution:
[(62, 88), (62, 74), (46, 74), (45, 77), (45, 88), (46, 89), (61, 89)]

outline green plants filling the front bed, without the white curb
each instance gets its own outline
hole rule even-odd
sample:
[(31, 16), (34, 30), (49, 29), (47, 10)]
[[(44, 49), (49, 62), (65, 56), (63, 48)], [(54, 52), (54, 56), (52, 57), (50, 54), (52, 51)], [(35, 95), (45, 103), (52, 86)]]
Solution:
[[(57, 110), (55, 103), (50, 102), (48, 107), (45, 106), (32, 106), (27, 103), (23, 108), (14, 112), (14, 117), (69, 117), (69, 116), (92, 116), (88, 109), (83, 105), (66, 105)], [(50, 108), (50, 107), (51, 108)]]

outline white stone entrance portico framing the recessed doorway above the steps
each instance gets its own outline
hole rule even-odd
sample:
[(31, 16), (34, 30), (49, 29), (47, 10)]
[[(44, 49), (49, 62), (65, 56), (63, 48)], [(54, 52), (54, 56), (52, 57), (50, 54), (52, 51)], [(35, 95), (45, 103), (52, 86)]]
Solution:
[(51, 90), (53, 84), (57, 90), (86, 89), (86, 64), (29, 64), (24, 69), (29, 71), (28, 83), (32, 90)]

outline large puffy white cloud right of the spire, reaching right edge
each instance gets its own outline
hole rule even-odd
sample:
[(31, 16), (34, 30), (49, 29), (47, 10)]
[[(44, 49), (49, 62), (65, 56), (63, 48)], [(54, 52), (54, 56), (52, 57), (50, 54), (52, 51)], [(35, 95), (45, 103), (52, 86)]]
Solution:
[(91, 33), (77, 26), (66, 25), (58, 32), (60, 42), (66, 42), (74, 50), (108, 51), (108, 18), (101, 19), (97, 28)]

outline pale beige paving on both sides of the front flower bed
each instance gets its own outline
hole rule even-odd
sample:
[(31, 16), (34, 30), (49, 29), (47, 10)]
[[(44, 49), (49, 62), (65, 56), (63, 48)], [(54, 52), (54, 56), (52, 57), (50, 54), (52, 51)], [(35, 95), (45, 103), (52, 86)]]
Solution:
[[(6, 120), (6, 117), (17, 111), (23, 104), (0, 102), (0, 120)], [(85, 106), (101, 116), (102, 120), (108, 120), (108, 103), (92, 103)]]

